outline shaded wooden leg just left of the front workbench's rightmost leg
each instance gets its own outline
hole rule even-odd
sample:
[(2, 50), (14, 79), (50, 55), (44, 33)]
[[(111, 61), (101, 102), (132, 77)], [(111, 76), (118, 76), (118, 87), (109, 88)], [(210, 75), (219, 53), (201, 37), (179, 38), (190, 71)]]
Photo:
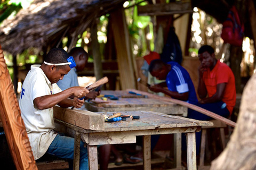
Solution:
[(175, 168), (181, 167), (181, 133), (174, 134), (174, 164)]

